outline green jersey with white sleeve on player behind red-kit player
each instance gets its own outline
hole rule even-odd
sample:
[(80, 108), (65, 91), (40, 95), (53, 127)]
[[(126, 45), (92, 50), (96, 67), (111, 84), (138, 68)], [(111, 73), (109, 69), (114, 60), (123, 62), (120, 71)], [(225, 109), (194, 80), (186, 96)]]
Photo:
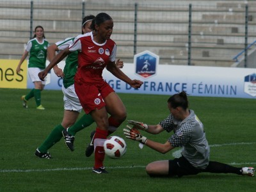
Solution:
[[(67, 38), (63, 41), (58, 41), (55, 43), (58, 47), (59, 50), (63, 50), (67, 47), (69, 47), (70, 44), (74, 42), (75, 38)], [(74, 84), (74, 77), (76, 75), (77, 71), (77, 64), (78, 64), (78, 59), (77, 59), (78, 51), (76, 52), (71, 52), (68, 54), (65, 67), (63, 70), (63, 73), (65, 77), (63, 78), (63, 86), (67, 89), (70, 85)]]

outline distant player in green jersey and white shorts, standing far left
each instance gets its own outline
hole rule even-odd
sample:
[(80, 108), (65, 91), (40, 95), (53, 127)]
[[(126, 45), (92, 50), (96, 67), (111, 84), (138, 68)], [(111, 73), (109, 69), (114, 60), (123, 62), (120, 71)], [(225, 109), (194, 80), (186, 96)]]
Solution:
[(27, 95), (21, 97), (24, 108), (28, 108), (28, 100), (35, 97), (36, 108), (40, 110), (45, 109), (41, 105), (41, 91), (44, 89), (45, 82), (40, 80), (38, 73), (45, 69), (48, 46), (49, 43), (45, 40), (44, 36), (44, 28), (42, 26), (36, 26), (35, 35), (32, 40), (28, 41), (26, 50), (16, 69), (17, 73), (20, 73), (20, 66), (29, 54), (28, 73), (31, 81), (35, 85), (35, 88)]

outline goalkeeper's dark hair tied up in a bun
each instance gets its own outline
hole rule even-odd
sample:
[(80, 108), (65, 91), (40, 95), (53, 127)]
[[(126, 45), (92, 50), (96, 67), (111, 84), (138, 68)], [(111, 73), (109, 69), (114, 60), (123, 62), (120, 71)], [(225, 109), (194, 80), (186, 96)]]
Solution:
[(186, 110), (189, 105), (188, 96), (185, 91), (173, 94), (167, 102), (171, 103), (173, 108), (182, 107), (184, 110)]

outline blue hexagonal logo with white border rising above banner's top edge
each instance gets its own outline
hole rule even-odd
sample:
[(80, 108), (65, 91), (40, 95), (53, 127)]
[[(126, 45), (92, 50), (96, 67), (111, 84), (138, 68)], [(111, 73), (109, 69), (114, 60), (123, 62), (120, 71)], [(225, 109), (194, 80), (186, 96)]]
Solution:
[(149, 51), (145, 51), (134, 55), (134, 63), (136, 74), (143, 78), (148, 78), (156, 74), (159, 57)]

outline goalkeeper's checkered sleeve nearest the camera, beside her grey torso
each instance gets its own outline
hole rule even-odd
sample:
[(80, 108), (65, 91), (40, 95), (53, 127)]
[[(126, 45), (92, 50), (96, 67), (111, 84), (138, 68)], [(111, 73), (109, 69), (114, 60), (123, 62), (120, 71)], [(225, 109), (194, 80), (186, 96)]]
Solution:
[(182, 147), (189, 142), (191, 137), (192, 126), (191, 124), (185, 122), (175, 134), (168, 138), (168, 142), (170, 142), (173, 147)]

